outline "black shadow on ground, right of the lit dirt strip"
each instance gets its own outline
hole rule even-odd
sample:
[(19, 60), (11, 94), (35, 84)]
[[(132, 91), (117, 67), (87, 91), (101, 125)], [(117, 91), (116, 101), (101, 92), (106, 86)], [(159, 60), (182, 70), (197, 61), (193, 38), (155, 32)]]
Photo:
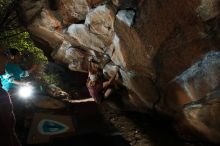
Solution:
[(151, 141), (153, 146), (217, 146), (195, 138), (192, 141), (183, 139), (174, 128), (175, 121), (155, 112), (147, 114), (123, 112)]

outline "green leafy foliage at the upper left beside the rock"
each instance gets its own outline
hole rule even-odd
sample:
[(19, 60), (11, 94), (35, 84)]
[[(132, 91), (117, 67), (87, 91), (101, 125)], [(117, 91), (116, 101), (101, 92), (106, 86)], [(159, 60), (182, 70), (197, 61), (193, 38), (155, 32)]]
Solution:
[(47, 58), (43, 51), (34, 45), (29, 33), (20, 25), (17, 2), (18, 0), (0, 0), (0, 43), (5, 48), (17, 48), (23, 52), (24, 67), (29, 68), (37, 64), (38, 69), (34, 76), (39, 77), (44, 75)]

